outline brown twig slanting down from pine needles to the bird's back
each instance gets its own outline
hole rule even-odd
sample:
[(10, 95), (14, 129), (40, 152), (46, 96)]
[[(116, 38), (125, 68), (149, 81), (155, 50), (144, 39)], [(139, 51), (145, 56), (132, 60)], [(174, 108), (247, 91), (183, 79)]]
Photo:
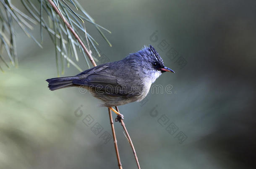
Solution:
[(55, 12), (60, 16), (60, 18), (63, 20), (63, 22), (65, 23), (65, 25), (67, 25), (68, 29), (71, 31), (71, 33), (75, 36), (75, 38), (78, 40), (78, 42), (81, 44), (82, 48), (84, 49), (86, 55), (88, 56), (88, 58), (90, 59), (91, 63), (93, 64), (93, 66), (97, 66), (94, 59), (91, 56), (91, 53), (89, 53), (89, 51), (87, 50), (87, 48), (85, 47), (84, 43), (82, 42), (82, 40), (79, 38), (79, 36), (77, 35), (77, 33), (75, 32), (75, 30), (73, 30), (73, 28), (71, 27), (71, 25), (65, 20), (64, 16), (61, 15), (60, 11), (58, 10), (57, 6), (55, 5), (54, 2), (52, 2), (52, 0), (48, 0), (48, 2), (52, 5), (52, 8), (55, 10)]

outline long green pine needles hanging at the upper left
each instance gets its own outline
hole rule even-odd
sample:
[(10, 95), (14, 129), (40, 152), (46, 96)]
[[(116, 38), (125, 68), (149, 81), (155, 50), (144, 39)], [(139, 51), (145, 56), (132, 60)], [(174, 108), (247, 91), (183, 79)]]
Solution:
[[(0, 29), (0, 63), (3, 63), (4, 66), (10, 68), (7, 62), (7, 59), (9, 59), (11, 65), (18, 67), (18, 52), (15, 36), (16, 30), (13, 27), (14, 23), (17, 23), (19, 28), (21, 28), (21, 30), (23, 30), (23, 32), (29, 38), (34, 40), (41, 48), (44, 41), (43, 29), (47, 30), (47, 33), (50, 35), (53, 45), (55, 46), (58, 76), (60, 76), (60, 70), (63, 74), (65, 72), (65, 66), (69, 67), (70, 64), (76, 67), (79, 71), (82, 71), (81, 68), (71, 60), (71, 58), (74, 57), (77, 62), (79, 61), (77, 48), (84, 56), (88, 67), (90, 67), (89, 59), (86, 55), (88, 55), (88, 53), (91, 55), (91, 46), (91, 48), (96, 51), (97, 55), (100, 56), (99, 50), (96, 47), (99, 44), (87, 32), (85, 22), (93, 24), (104, 40), (112, 46), (106, 36), (102, 33), (102, 30), (111, 33), (110, 30), (95, 23), (94, 19), (86, 12), (86, 10), (84, 10), (84, 8), (82, 8), (77, 0), (52, 0), (52, 2), (56, 5), (57, 9), (55, 10), (59, 11), (60, 15), (56, 15), (57, 12), (53, 10), (53, 6), (48, 0), (21, 0), (25, 10), (29, 14), (25, 14), (25, 12), (19, 10), (10, 0), (0, 0), (0, 24), (2, 27), (2, 29)], [(77, 11), (80, 11), (81, 13), (77, 13)], [(48, 20), (44, 20), (44, 17), (47, 17)], [(86, 43), (86, 52), (84, 51), (84, 47), (82, 47), (81, 44), (78, 43), (78, 40), (74, 38), (62, 19), (67, 21), (71, 25), (71, 28), (76, 31), (77, 35), (81, 38), (81, 41), (84, 44)], [(31, 32), (37, 24), (40, 26), (39, 41)], [(81, 32), (84, 33), (83, 36), (81, 36)], [(5, 50), (6, 53), (2, 53), (3, 50)], [(98, 61), (94, 56), (91, 57), (95, 61)], [(59, 64), (61, 66), (60, 69)], [(3, 67), (0, 67), (0, 69), (3, 71)]]

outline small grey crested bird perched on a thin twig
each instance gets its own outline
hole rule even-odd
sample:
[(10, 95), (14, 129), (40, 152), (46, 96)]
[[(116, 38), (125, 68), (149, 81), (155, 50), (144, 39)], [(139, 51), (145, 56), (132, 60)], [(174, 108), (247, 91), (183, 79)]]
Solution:
[(165, 72), (175, 73), (165, 67), (159, 53), (149, 45), (136, 53), (130, 53), (123, 60), (95, 66), (76, 76), (46, 81), (51, 91), (82, 86), (102, 101), (101, 106), (110, 108), (123, 119), (123, 115), (112, 107), (143, 100), (152, 83)]

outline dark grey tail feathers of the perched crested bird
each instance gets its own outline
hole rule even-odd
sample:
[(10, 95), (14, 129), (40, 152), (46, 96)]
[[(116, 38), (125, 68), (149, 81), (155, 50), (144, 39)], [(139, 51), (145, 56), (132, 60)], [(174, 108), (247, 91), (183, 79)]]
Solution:
[(70, 77), (63, 77), (63, 78), (49, 78), (46, 81), (49, 83), (48, 88), (50, 88), (51, 91), (54, 91), (60, 88), (77, 86), (73, 84), (72, 81), (78, 78), (79, 77), (77, 76), (70, 76)]

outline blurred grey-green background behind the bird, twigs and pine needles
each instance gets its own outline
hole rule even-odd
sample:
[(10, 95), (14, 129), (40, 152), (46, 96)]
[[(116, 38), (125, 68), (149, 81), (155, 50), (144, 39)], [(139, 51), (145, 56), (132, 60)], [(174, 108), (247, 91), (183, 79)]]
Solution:
[[(172, 86), (168, 92), (119, 107), (142, 169), (256, 167), (255, 0), (79, 2), (112, 32), (110, 47), (87, 24), (99, 43), (98, 65), (151, 44), (176, 72), (154, 83)], [(0, 168), (117, 169), (107, 108), (78, 88), (50, 91), (45, 80), (57, 73), (47, 32), (41, 49), (15, 30), (19, 67), (0, 73)], [(71, 66), (61, 76), (78, 73)], [(115, 129), (123, 168), (135, 169), (118, 122)]]

